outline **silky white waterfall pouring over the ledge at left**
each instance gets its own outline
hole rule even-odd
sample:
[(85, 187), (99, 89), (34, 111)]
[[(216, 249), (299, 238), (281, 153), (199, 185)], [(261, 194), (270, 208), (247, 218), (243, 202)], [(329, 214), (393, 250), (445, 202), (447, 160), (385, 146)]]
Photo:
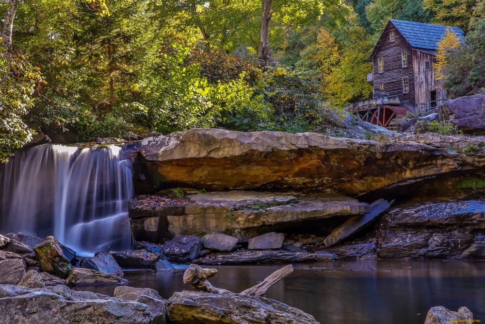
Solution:
[(129, 152), (40, 145), (5, 165), (1, 232), (53, 235), (78, 254), (129, 249)]

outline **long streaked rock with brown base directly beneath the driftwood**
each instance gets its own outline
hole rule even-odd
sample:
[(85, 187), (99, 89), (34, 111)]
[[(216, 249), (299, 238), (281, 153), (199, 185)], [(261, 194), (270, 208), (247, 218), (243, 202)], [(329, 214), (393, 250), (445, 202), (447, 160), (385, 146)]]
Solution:
[(232, 292), (176, 292), (167, 301), (169, 323), (318, 324), (313, 316), (272, 299)]

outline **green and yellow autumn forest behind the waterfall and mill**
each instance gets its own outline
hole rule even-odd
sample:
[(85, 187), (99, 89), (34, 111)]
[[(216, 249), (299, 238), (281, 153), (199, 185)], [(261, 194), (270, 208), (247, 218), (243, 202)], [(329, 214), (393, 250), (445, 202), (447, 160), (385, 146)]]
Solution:
[(484, 0), (3, 0), (0, 15), (2, 159), (32, 132), (323, 131), (372, 95), (364, 59), (389, 18), (462, 28), (445, 85), (485, 85)]

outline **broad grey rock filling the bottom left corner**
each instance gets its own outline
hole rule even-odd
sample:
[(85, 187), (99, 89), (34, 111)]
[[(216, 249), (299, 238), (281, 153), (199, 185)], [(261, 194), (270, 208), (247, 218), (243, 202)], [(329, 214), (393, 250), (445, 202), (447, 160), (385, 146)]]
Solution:
[(148, 307), (65, 286), (31, 289), (0, 286), (3, 323), (149, 324)]

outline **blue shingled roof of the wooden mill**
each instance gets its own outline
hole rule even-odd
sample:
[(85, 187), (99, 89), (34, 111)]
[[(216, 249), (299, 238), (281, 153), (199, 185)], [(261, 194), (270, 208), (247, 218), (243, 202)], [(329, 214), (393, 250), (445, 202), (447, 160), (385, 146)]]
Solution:
[(450, 28), (458, 34), (458, 37), (462, 41), (465, 40), (463, 31), (458, 27), (424, 24), (422, 22), (397, 19), (390, 19), (390, 21), (414, 48), (436, 51), (438, 49), (438, 42), (444, 36), (447, 28)]

